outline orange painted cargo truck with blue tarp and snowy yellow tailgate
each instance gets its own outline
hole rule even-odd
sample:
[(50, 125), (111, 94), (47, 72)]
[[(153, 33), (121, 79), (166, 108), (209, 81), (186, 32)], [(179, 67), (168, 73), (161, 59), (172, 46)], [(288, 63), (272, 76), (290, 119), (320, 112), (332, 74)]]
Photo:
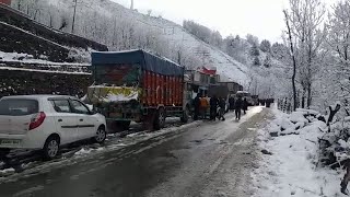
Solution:
[(184, 67), (144, 50), (92, 53), (95, 84), (86, 101), (109, 121), (124, 128), (130, 121), (154, 129), (164, 127), (166, 117), (188, 120), (184, 97)]

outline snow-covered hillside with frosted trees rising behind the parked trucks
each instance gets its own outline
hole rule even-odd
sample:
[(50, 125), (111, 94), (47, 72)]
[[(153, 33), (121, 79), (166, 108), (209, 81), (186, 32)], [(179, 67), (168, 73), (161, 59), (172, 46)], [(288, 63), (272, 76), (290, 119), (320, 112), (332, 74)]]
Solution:
[(238, 82), (253, 94), (276, 94), (277, 69), (271, 68), (279, 63), (272, 59), (271, 68), (265, 68), (266, 54), (260, 51), (261, 66), (252, 66), (252, 45), (245, 39), (242, 39), (244, 48), (236, 49), (243, 60), (235, 59), (221, 50), (222, 47), (202, 42), (162, 16), (142, 14), (109, 0), (79, 0), (74, 18), (74, 5), (71, 0), (12, 1), (13, 8), (39, 23), (98, 42), (109, 50), (142, 48), (189, 69), (215, 67), (222, 81)]

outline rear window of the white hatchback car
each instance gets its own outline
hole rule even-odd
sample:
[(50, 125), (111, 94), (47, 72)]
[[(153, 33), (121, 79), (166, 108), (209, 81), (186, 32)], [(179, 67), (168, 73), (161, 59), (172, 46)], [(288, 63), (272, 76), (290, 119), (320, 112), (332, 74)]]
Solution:
[(26, 116), (38, 113), (36, 100), (9, 99), (0, 101), (0, 115)]

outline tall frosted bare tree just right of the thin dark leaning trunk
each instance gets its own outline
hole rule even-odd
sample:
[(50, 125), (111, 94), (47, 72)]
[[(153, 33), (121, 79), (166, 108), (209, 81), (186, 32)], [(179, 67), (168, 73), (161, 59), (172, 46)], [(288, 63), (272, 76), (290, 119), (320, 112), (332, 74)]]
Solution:
[(299, 77), (306, 95), (306, 105), (312, 105), (312, 88), (317, 73), (317, 56), (325, 40), (323, 28), (325, 5), (320, 0), (290, 0), (290, 31), (295, 38), (294, 56), (299, 60)]

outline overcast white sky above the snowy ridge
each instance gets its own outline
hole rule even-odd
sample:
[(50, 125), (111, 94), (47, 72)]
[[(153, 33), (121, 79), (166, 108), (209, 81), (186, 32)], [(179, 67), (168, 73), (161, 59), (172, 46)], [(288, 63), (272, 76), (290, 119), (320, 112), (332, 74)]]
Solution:
[[(131, 0), (113, 0), (130, 7)], [(288, 0), (133, 0), (135, 9), (182, 24), (194, 20), (223, 36), (253, 34), (259, 39), (277, 42), (284, 28), (282, 10)], [(334, 1), (334, 0), (326, 0)]]

